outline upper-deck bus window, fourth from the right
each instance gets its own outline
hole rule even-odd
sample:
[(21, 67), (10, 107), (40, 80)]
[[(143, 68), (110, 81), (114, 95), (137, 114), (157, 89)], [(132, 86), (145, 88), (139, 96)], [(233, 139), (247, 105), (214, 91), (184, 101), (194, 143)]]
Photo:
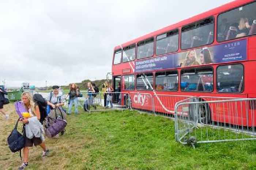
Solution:
[(151, 57), (154, 54), (154, 38), (149, 38), (138, 43), (137, 58)]

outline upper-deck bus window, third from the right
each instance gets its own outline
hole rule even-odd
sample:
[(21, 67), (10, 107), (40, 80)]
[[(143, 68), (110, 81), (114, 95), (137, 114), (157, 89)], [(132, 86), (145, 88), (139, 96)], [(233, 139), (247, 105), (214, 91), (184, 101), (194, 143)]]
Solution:
[(177, 51), (178, 41), (179, 41), (178, 30), (173, 30), (165, 34), (158, 35), (156, 40), (157, 55)]

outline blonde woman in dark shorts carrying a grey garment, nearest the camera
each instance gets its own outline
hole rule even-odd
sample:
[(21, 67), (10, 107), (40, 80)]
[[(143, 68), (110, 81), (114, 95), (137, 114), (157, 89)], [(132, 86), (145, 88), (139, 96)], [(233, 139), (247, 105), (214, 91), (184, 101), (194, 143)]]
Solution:
[(39, 145), (43, 149), (42, 157), (49, 155), (49, 150), (46, 148), (44, 142), (43, 126), (39, 122), (41, 116), (38, 105), (34, 103), (29, 92), (23, 92), (21, 100), (28, 110), (30, 118), (20, 118), (20, 121), (24, 124), (23, 136), (25, 136), (25, 147), (23, 148), (23, 163), (18, 170), (23, 170), (29, 165), (29, 147)]

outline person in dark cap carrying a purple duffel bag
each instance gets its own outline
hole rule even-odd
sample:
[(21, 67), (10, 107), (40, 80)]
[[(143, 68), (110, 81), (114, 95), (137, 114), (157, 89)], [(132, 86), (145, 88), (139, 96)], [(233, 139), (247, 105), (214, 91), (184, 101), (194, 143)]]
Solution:
[[(50, 92), (48, 96), (48, 105), (50, 105), (50, 112), (48, 116), (53, 119), (63, 119), (67, 121), (67, 115), (65, 113), (65, 110), (63, 109), (64, 105), (64, 95), (59, 94), (59, 86), (53, 86), (53, 91)], [(53, 120), (50, 120), (50, 124), (53, 124)], [(64, 134), (65, 131), (61, 132), (61, 135)], [(55, 137), (58, 137), (59, 135), (56, 135)]]

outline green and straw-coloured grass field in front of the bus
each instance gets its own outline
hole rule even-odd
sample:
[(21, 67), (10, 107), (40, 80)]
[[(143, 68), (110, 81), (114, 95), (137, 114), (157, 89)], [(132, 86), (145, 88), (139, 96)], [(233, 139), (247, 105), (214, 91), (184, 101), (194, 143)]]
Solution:
[[(10, 152), (6, 139), (14, 127), (0, 117), (0, 170), (17, 169), (19, 153)], [(21, 126), (21, 124), (19, 125)], [(256, 141), (200, 144), (195, 149), (174, 139), (174, 122), (134, 111), (93, 112), (68, 116), (67, 132), (46, 139), (50, 155), (30, 150), (27, 169), (33, 170), (255, 170)]]

